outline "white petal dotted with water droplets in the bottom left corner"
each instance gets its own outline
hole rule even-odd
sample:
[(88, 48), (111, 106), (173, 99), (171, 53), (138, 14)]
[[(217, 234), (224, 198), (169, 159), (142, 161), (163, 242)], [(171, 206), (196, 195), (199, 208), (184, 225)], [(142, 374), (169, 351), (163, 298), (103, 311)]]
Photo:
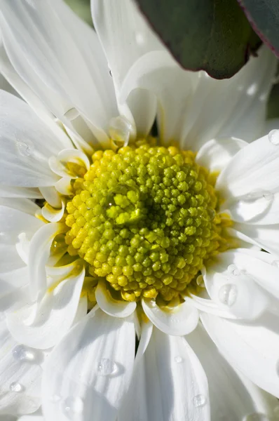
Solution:
[(0, 340), (0, 412), (34, 412), (41, 405), (43, 354), (15, 342), (5, 320), (0, 322)]

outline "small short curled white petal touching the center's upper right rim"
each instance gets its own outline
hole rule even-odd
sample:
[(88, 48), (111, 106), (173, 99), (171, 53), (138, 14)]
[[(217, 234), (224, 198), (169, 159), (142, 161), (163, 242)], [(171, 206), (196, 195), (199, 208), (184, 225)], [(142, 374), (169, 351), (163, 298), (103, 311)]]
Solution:
[(207, 170), (221, 171), (231, 158), (247, 145), (244, 140), (236, 138), (212, 139), (203, 145), (196, 156), (196, 162)]

